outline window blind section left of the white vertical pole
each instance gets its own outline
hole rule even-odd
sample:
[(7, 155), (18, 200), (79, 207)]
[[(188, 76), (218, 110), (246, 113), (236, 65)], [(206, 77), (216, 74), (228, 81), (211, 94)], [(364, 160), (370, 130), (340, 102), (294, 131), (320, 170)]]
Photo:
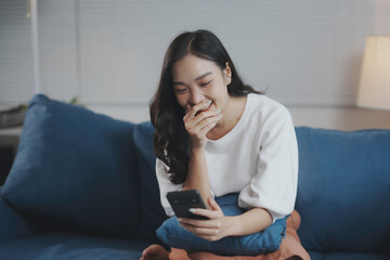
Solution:
[(32, 47), (26, 1), (0, 1), (0, 106), (34, 93)]

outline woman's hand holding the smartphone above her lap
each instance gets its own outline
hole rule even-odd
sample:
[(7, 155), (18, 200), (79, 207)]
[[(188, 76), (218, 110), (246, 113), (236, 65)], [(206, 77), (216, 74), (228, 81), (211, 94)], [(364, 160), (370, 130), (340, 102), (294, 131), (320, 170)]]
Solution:
[(234, 234), (237, 227), (234, 217), (225, 217), (222, 209), (212, 198), (208, 199), (211, 209), (194, 209), (195, 214), (204, 216), (209, 220), (179, 218), (180, 225), (186, 231), (209, 242), (219, 240)]

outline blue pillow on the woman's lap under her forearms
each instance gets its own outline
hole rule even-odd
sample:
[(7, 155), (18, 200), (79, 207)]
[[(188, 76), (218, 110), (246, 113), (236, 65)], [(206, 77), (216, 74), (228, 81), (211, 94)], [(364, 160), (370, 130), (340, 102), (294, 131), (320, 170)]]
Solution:
[[(216, 199), (225, 216), (244, 213), (238, 207), (238, 195), (230, 194)], [(257, 256), (275, 251), (286, 235), (286, 219), (278, 219), (262, 232), (247, 236), (229, 236), (208, 242), (182, 229), (176, 217), (166, 220), (157, 236), (167, 245), (192, 251), (210, 251), (221, 256)]]

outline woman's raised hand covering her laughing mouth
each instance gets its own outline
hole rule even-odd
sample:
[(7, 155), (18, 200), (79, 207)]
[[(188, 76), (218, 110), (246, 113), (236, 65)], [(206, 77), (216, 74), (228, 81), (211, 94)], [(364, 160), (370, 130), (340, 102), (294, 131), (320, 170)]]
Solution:
[(206, 134), (222, 118), (221, 110), (206, 110), (210, 101), (200, 102), (194, 105), (184, 116), (184, 127), (190, 134), (191, 148), (203, 148), (206, 146)]

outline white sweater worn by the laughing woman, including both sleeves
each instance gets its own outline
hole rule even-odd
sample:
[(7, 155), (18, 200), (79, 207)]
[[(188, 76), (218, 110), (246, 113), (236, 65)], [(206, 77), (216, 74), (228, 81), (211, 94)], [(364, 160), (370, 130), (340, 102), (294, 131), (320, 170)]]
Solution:
[[(291, 213), (297, 195), (298, 147), (288, 110), (265, 95), (248, 94), (236, 126), (219, 140), (208, 140), (206, 159), (211, 195), (239, 193), (238, 206), (261, 207), (273, 222)], [(159, 159), (156, 174), (161, 205), (173, 216), (166, 194), (183, 184), (169, 181), (168, 167)]]

